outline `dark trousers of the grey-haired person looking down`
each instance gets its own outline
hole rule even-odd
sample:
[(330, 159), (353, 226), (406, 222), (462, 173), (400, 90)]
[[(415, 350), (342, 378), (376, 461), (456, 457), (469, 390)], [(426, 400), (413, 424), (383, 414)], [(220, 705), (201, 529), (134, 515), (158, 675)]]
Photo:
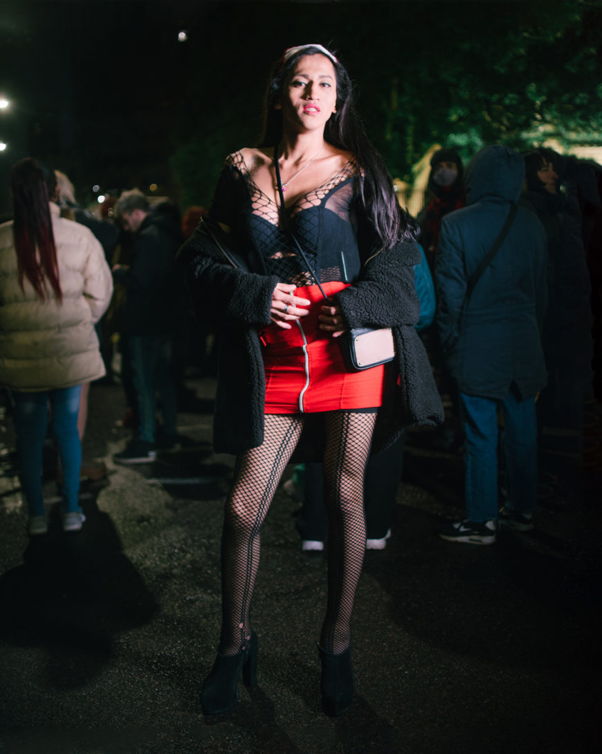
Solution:
[(155, 442), (157, 392), (161, 399), (163, 430), (176, 434), (176, 397), (172, 375), (172, 340), (169, 336), (129, 336), (132, 378), (138, 401), (138, 437)]

